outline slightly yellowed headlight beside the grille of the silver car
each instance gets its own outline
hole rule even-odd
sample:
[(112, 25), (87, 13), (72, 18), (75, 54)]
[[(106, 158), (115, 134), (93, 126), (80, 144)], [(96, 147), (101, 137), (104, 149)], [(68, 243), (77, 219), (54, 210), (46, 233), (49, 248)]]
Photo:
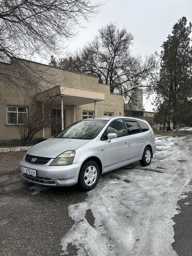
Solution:
[(61, 155), (54, 158), (50, 165), (58, 166), (58, 165), (72, 165), (75, 157), (74, 150), (68, 150), (63, 152)]

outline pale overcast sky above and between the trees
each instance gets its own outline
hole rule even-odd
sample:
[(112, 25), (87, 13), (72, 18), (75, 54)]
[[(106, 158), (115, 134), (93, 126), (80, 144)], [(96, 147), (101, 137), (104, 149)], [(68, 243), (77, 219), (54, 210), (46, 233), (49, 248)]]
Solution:
[[(183, 16), (192, 21), (192, 0), (108, 0), (87, 28), (79, 29), (66, 51), (74, 51), (91, 41), (98, 29), (112, 21), (133, 34), (133, 55), (149, 55), (160, 51), (173, 25)], [(144, 104), (152, 111), (146, 100)]]

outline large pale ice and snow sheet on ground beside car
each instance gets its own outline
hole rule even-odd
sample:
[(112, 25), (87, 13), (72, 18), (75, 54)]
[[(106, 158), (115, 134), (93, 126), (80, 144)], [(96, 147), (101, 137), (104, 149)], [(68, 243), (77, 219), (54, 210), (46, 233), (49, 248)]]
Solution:
[[(176, 255), (171, 246), (172, 217), (180, 212), (177, 201), (191, 179), (191, 152), (184, 138), (156, 138), (161, 151), (154, 155), (150, 168), (161, 166), (163, 173), (143, 171), (138, 163), (106, 173), (83, 203), (68, 207), (75, 223), (62, 238), (61, 255), (67, 253), (68, 243), (76, 246), (80, 256)], [(181, 153), (187, 164), (176, 161)], [(88, 209), (95, 227), (85, 218)]]

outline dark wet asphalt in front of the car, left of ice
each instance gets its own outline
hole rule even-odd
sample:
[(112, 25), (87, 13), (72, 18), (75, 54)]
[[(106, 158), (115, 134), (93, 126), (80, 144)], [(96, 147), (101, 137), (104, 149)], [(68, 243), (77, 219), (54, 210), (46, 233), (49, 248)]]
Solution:
[[(61, 239), (74, 224), (68, 206), (85, 200), (87, 194), (77, 186), (42, 188), (39, 192), (20, 173), (0, 176), (1, 256), (62, 253)], [(73, 246), (68, 245), (68, 252), (76, 255)]]

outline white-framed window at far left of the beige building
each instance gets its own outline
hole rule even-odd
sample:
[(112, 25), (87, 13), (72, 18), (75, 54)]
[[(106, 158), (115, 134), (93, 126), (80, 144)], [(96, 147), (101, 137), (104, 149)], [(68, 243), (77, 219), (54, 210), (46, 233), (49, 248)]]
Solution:
[(28, 117), (28, 107), (7, 106), (7, 125), (25, 124)]

